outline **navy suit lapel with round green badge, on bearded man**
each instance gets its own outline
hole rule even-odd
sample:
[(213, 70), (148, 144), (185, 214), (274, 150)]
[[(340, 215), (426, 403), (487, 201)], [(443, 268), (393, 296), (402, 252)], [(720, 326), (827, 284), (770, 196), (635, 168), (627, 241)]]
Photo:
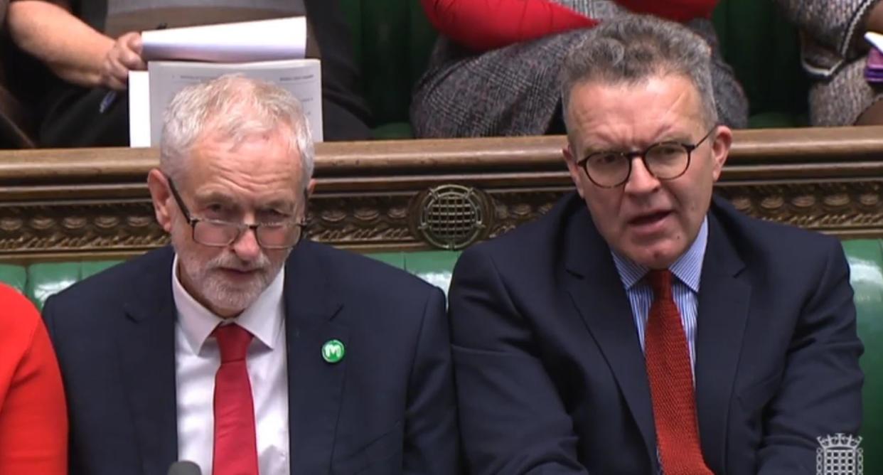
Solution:
[(332, 321), (342, 304), (310, 242), (291, 253), (285, 268), (289, 434), (292, 473), (328, 473), (343, 398), (347, 359), (321, 355), (328, 340), (350, 343), (348, 328)]

